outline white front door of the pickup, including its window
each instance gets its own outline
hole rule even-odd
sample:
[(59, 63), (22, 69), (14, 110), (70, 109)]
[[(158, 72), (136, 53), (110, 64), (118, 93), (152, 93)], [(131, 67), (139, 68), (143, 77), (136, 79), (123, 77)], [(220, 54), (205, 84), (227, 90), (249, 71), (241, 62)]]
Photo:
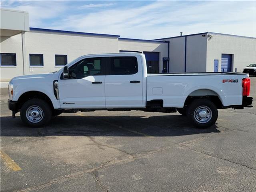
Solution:
[(105, 108), (106, 57), (85, 58), (69, 67), (69, 79), (59, 80), (61, 108)]

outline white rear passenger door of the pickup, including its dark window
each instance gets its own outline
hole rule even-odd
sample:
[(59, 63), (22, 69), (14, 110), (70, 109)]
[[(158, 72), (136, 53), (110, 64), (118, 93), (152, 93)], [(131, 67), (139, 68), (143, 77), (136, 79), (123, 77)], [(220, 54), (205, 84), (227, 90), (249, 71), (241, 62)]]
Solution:
[(143, 73), (140, 57), (107, 57), (106, 70), (106, 108), (141, 108)]

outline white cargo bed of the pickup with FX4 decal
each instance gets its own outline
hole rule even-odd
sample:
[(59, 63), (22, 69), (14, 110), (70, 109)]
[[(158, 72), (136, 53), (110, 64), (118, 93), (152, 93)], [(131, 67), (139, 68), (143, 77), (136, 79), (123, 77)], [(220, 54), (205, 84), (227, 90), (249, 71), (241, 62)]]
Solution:
[(223, 106), (242, 104), (242, 79), (237, 72), (148, 74), (147, 101), (163, 100), (164, 107), (183, 108), (188, 96), (218, 96)]

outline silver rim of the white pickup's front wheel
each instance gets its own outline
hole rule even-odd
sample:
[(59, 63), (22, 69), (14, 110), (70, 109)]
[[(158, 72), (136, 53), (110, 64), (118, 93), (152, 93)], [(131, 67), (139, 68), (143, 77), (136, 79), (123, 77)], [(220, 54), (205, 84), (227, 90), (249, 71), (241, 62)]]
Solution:
[(39, 106), (33, 105), (26, 110), (26, 117), (32, 123), (38, 123), (43, 119), (44, 112)]

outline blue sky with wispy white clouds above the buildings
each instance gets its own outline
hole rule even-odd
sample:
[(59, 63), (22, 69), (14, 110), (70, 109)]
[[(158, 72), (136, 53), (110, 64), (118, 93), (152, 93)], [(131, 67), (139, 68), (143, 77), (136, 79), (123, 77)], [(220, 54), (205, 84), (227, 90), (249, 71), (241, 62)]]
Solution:
[(256, 37), (255, 1), (2, 1), (30, 27), (156, 39), (218, 32)]

